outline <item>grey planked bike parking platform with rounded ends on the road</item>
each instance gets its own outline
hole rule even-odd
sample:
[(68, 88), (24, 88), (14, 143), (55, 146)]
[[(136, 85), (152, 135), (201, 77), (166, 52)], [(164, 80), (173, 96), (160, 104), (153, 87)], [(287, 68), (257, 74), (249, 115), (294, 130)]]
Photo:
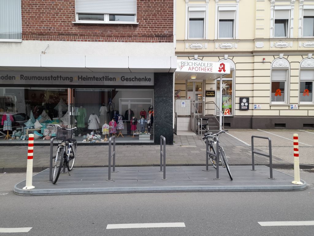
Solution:
[(56, 184), (48, 183), (49, 169), (33, 177), (35, 188), (24, 190), (25, 181), (14, 186), (19, 195), (47, 194), (105, 194), (105, 193), (138, 193), (138, 192), (214, 192), (214, 191), (297, 191), (306, 188), (306, 182), (296, 185), (294, 178), (283, 172), (273, 170), (269, 179), (267, 166), (230, 166), (233, 180), (224, 168), (219, 168), (219, 180), (216, 170), (205, 166), (166, 166), (166, 178), (162, 180), (160, 167), (117, 167), (108, 179), (108, 167), (73, 168), (68, 173), (60, 174)]

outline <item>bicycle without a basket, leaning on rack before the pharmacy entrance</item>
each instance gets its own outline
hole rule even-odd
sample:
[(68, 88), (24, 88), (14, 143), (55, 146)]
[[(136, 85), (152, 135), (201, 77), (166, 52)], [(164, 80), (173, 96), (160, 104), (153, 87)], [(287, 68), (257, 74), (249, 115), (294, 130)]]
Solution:
[[(210, 153), (214, 153), (216, 155), (216, 149), (214, 147), (214, 144), (216, 144), (218, 142), (218, 146), (219, 146), (219, 157), (221, 157), (221, 159), (219, 158), (219, 162), (221, 163), (221, 165), (227, 169), (227, 172), (230, 176), (230, 179), (232, 180), (232, 176), (231, 176), (231, 172), (230, 172), (230, 169), (229, 169), (229, 162), (228, 162), (228, 159), (227, 159), (227, 156), (225, 154), (225, 151), (224, 151), (224, 148), (222, 146), (220, 146), (220, 143), (219, 143), (219, 138), (217, 139), (217, 136), (221, 135), (222, 133), (225, 133), (227, 132), (228, 130), (221, 130), (219, 131), (218, 133), (215, 133), (213, 134), (213, 132), (208, 132), (208, 133), (204, 133), (204, 139), (207, 139), (208, 140), (208, 151)], [(205, 143), (207, 142), (207, 140), (205, 141)], [(212, 151), (211, 151), (212, 150)], [(208, 159), (210, 160), (210, 162), (212, 163), (213, 167), (215, 169), (217, 169), (217, 159), (215, 156), (213, 155), (208, 155)]]

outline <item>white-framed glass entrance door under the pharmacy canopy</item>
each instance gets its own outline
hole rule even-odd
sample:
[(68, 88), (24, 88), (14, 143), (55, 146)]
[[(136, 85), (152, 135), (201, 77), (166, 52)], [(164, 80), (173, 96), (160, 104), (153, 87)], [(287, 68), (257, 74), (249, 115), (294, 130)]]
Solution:
[(195, 101), (198, 115), (203, 115), (203, 81), (187, 82), (187, 98)]

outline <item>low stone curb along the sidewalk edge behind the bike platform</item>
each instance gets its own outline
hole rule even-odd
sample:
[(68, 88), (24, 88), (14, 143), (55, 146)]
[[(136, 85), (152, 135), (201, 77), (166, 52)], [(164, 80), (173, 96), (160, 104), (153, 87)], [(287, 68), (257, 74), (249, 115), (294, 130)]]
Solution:
[[(116, 165), (116, 167), (145, 167), (145, 166), (160, 166), (159, 164), (151, 164), (151, 165)], [(205, 164), (172, 164), (167, 166), (205, 166)], [(252, 166), (252, 164), (229, 164), (229, 166)], [(267, 166), (269, 164), (255, 164), (255, 166)], [(76, 168), (98, 168), (98, 167), (108, 167), (108, 165), (103, 166), (75, 166)], [(74, 167), (74, 168), (75, 168)], [(277, 169), (293, 169), (293, 164), (273, 164), (273, 168)], [(314, 165), (311, 164), (300, 164), (300, 169), (312, 169)], [(46, 169), (49, 169), (49, 166), (43, 167), (33, 167), (33, 172), (41, 172)], [(26, 167), (4, 167), (0, 168), (0, 173), (19, 173), (19, 172), (26, 172)]]

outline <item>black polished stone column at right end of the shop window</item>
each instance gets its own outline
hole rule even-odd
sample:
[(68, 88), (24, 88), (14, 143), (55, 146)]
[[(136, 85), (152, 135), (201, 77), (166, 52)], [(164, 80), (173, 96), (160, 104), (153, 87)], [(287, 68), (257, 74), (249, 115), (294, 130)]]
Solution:
[(173, 145), (173, 73), (154, 73), (154, 143)]

